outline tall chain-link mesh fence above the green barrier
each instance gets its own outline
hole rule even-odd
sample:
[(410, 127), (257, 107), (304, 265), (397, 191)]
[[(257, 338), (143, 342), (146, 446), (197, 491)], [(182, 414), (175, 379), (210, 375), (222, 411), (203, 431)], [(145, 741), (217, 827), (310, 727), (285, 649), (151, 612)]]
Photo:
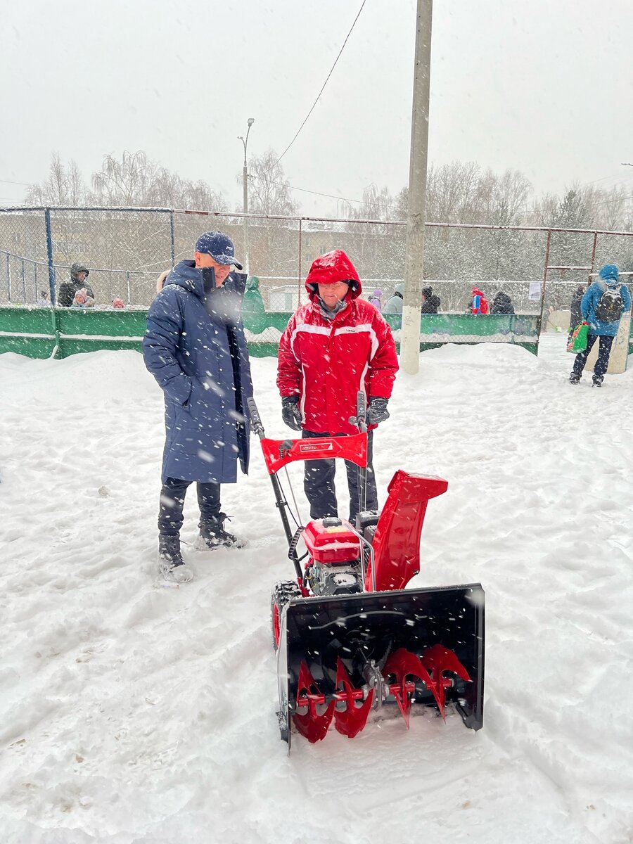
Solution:
[[(160, 273), (192, 257), (197, 237), (211, 229), (233, 239), (235, 255), (259, 279), (266, 311), (293, 311), (305, 300), (311, 262), (333, 249), (349, 254), (364, 295), (381, 291), (383, 306), (403, 284), (402, 222), (168, 208), (3, 208), (0, 304), (57, 300), (70, 266), (82, 262), (96, 307), (111, 307), (115, 298), (147, 307)], [(468, 311), (474, 286), (490, 302), (503, 290), (517, 313), (540, 315), (568, 308), (574, 289), (605, 262), (633, 271), (633, 232), (427, 224), (419, 287), (430, 284), (449, 313)]]

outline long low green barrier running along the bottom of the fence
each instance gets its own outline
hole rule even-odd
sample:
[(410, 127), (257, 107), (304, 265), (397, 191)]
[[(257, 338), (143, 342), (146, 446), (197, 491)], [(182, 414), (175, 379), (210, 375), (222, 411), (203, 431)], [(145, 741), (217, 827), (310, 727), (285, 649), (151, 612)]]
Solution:
[[(289, 313), (244, 311), (244, 327), (254, 357), (277, 355)], [(83, 308), (0, 307), (0, 353), (31, 358), (65, 358), (98, 349), (141, 349), (147, 311)], [(399, 346), (402, 317), (386, 314)], [(521, 314), (423, 314), (420, 350), (446, 343), (511, 343), (538, 354), (538, 317)]]

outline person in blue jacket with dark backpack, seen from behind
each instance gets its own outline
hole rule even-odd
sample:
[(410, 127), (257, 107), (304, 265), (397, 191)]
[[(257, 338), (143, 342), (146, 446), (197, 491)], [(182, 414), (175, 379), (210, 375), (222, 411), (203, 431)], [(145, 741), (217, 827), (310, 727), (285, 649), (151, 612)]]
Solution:
[(615, 264), (605, 264), (598, 273), (598, 279), (589, 285), (581, 300), (582, 319), (588, 324), (587, 348), (576, 354), (569, 376), (572, 384), (580, 382), (589, 352), (598, 340), (598, 359), (593, 367), (592, 381), (594, 387), (602, 387), (611, 346), (625, 311), (630, 311), (630, 293), (625, 284), (620, 284), (619, 269)]

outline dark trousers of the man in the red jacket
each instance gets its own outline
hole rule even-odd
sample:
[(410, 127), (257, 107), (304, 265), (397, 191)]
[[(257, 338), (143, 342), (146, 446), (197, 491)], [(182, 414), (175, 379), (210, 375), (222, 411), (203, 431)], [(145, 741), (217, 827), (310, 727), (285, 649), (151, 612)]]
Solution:
[[(365, 510), (378, 509), (378, 494), (376, 492), (376, 477), (372, 465), (373, 459), (373, 434), (371, 430), (367, 434), (367, 483)], [(315, 436), (330, 436), (327, 433), (317, 434), (311, 430), (304, 430), (302, 437), (310, 438)], [(335, 434), (334, 436), (344, 436)], [(358, 502), (358, 473), (359, 468), (351, 461), (345, 461), (347, 470), (347, 485), (349, 489), (349, 521), (354, 523), (356, 513), (359, 511)], [(334, 488), (334, 473), (336, 472), (335, 460), (306, 460), (306, 473), (304, 475), (303, 488), (306, 490), (306, 498), (310, 502), (311, 519), (322, 519), (327, 516), (338, 516), (338, 505), (336, 491)]]

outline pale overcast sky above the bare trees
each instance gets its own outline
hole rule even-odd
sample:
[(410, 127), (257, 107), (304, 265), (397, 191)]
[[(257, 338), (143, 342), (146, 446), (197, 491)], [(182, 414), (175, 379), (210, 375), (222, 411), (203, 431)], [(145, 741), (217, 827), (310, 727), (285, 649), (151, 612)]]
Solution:
[[(0, 0), (0, 201), (46, 178), (51, 151), (86, 181), (143, 149), (241, 202), (242, 145), (281, 154), (362, 0)], [(294, 187), (360, 199), (408, 183), (414, 0), (366, 0), (306, 126)], [(430, 160), (633, 193), (633, 0), (436, 0)], [(297, 192), (303, 214), (334, 200)]]

